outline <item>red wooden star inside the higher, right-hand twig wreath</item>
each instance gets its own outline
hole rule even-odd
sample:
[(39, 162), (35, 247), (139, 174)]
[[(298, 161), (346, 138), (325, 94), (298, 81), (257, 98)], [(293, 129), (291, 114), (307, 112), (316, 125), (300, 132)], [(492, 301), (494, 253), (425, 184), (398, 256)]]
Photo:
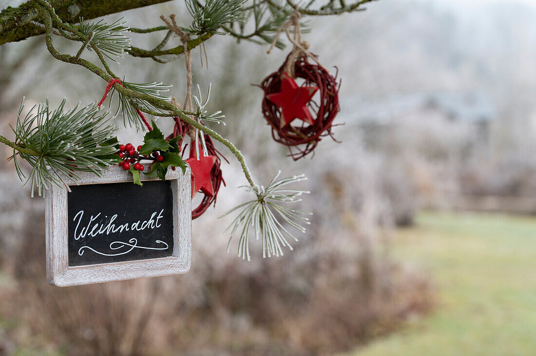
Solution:
[(266, 95), (268, 100), (282, 109), (281, 128), (290, 124), (295, 118), (311, 125), (315, 123), (307, 103), (315, 95), (316, 90), (317, 87), (299, 87), (294, 79), (284, 74), (281, 80), (281, 92)]

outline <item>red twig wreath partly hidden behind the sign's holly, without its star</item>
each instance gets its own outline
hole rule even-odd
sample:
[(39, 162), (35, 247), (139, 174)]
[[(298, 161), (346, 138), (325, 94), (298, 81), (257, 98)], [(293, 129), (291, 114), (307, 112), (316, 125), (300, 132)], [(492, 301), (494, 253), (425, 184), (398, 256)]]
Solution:
[[(175, 126), (173, 128), (173, 133), (170, 134), (166, 140), (169, 140), (169, 139), (172, 139), (174, 137), (177, 137), (178, 135), (180, 135), (182, 138), (177, 142), (177, 144), (179, 146), (182, 146), (182, 143), (184, 141), (184, 137), (186, 135), (188, 135), (188, 131), (190, 130), (190, 124), (182, 121), (180, 118), (178, 117), (174, 117), (175, 119)], [(210, 138), (209, 135), (207, 134), (204, 134), (205, 135), (205, 143), (206, 143), (206, 149), (208, 150), (209, 152), (209, 156), (215, 156), (216, 157), (216, 162), (214, 164), (214, 166), (212, 167), (212, 170), (210, 172), (210, 181), (212, 183), (212, 187), (214, 189), (214, 195), (210, 195), (210, 194), (205, 194), (204, 192), (202, 191), (199, 191), (198, 194), (203, 194), (203, 199), (201, 200), (201, 202), (199, 203), (199, 205), (195, 208), (192, 208), (192, 219), (196, 219), (198, 218), (199, 216), (203, 215), (203, 213), (212, 205), (212, 204), (216, 204), (216, 199), (217, 199), (217, 196), (218, 196), (218, 192), (220, 190), (220, 186), (221, 184), (223, 183), (225, 185), (225, 181), (224, 181), (224, 178), (222, 176), (222, 172), (221, 172), (221, 158), (223, 158), (227, 163), (229, 163), (229, 161), (227, 161), (227, 159), (217, 150), (215, 149), (214, 147), (214, 142), (212, 141), (212, 139)], [(182, 152), (184, 154), (184, 150), (185, 150), (186, 146), (184, 146)], [(195, 150), (195, 146), (194, 145), (190, 145), (190, 152), (191, 150)], [(192, 180), (194, 178), (192, 177)], [(192, 187), (194, 186), (193, 184), (193, 181), (192, 181)], [(193, 196), (193, 193), (192, 192), (192, 196)]]

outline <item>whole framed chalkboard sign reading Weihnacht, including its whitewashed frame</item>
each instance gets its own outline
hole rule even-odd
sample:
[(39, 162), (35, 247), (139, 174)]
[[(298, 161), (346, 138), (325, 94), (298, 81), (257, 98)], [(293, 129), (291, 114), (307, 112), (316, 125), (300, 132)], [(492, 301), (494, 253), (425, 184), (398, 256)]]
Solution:
[(100, 283), (190, 269), (189, 171), (170, 170), (165, 181), (142, 179), (143, 186), (133, 184), (130, 172), (118, 166), (102, 177), (83, 173), (81, 178), (70, 191), (51, 187), (46, 195), (50, 284)]

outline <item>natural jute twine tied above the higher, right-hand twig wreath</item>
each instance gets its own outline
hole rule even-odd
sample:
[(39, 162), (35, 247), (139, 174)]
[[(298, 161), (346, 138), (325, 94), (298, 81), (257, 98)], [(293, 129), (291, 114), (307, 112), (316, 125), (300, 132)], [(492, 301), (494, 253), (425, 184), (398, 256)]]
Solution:
[[(300, 56), (306, 56), (312, 58), (319, 66), (323, 67), (323, 65), (318, 61), (318, 58), (311, 52), (309, 52), (309, 43), (307, 41), (302, 41), (301, 38), (301, 31), (300, 31), (300, 20), (301, 20), (301, 12), (298, 6), (296, 6), (296, 10), (291, 14), (291, 16), (288, 18), (287, 21), (285, 21), (279, 28), (277, 29), (276, 35), (273, 37), (272, 44), (270, 46), (270, 49), (266, 51), (267, 54), (270, 54), (272, 52), (272, 49), (274, 46), (276, 46), (277, 40), (279, 38), (279, 35), (281, 34), (281, 31), (285, 29), (285, 33), (287, 34), (288, 40), (291, 41), (293, 44), (292, 52), (287, 57), (287, 62), (284, 67), (284, 72), (289, 75), (291, 78), (296, 78), (294, 75), (294, 62), (296, 58)], [(294, 26), (294, 36), (291, 36), (290, 28), (291, 26)]]

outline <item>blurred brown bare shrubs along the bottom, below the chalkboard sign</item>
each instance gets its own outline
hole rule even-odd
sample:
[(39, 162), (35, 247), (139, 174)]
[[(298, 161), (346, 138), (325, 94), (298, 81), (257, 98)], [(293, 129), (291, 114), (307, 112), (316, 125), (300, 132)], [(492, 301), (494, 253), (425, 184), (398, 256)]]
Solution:
[(44, 261), (42, 252), (25, 249), (2, 311), (69, 354), (297, 355), (346, 350), (430, 306), (426, 279), (396, 263), (344, 246), (299, 248), (249, 271), (234, 259), (215, 270), (198, 257), (181, 277), (66, 289), (34, 275), (28, 262)]

